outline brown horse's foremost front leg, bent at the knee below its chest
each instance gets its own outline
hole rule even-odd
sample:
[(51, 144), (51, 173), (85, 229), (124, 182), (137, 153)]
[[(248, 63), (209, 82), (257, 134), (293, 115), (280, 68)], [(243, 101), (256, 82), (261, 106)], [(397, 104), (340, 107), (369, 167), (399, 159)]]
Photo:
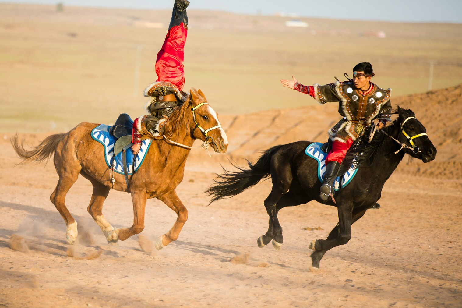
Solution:
[(165, 205), (167, 205), (170, 209), (173, 209), (177, 215), (176, 222), (173, 224), (173, 227), (170, 229), (170, 231), (159, 236), (156, 240), (156, 243), (154, 244), (157, 250), (161, 250), (178, 238), (184, 223), (188, 220), (188, 210), (184, 207), (180, 198), (178, 198), (176, 195), (176, 191), (174, 190), (169, 191), (157, 198), (165, 203)]

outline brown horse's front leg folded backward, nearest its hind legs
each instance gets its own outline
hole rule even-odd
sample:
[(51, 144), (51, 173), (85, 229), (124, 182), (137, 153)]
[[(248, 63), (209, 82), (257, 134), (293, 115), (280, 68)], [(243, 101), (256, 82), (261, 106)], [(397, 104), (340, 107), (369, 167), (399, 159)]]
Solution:
[(133, 225), (130, 228), (119, 228), (109, 231), (106, 236), (106, 240), (108, 240), (109, 244), (114, 245), (117, 243), (117, 240), (127, 240), (130, 236), (140, 234), (141, 231), (143, 231), (146, 200), (146, 191), (132, 192)]

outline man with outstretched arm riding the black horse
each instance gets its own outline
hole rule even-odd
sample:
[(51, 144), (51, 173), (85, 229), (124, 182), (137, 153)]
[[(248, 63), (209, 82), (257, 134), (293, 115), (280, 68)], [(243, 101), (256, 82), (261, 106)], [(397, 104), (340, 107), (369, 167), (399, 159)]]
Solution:
[(391, 89), (383, 90), (373, 84), (371, 78), (374, 75), (371, 63), (362, 62), (353, 68), (353, 79), (345, 82), (337, 80), (325, 86), (304, 86), (294, 76), (292, 80), (281, 80), (283, 86), (309, 94), (321, 104), (340, 102), (339, 113), (343, 118), (328, 131), (332, 149), (326, 158), (326, 172), (321, 185), (323, 201), (333, 195), (332, 186), (340, 164), (353, 142), (364, 134), (373, 120), (378, 119), (377, 129), (390, 121)]

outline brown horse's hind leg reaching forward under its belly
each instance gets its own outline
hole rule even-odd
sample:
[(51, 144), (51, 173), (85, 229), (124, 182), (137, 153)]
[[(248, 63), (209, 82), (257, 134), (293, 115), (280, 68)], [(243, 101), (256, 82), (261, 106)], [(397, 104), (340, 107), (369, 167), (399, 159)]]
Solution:
[[(104, 236), (107, 238), (109, 236), (109, 232), (114, 230), (114, 227), (112, 227), (106, 220), (106, 217), (103, 216), (103, 202), (106, 200), (106, 197), (108, 197), (110, 188), (94, 179), (90, 179), (90, 181), (91, 184), (93, 184), (93, 194), (91, 195), (87, 211), (90, 213), (91, 217), (93, 217), (95, 222), (103, 231)], [(108, 241), (108, 243), (115, 246), (117, 245), (117, 241)]]

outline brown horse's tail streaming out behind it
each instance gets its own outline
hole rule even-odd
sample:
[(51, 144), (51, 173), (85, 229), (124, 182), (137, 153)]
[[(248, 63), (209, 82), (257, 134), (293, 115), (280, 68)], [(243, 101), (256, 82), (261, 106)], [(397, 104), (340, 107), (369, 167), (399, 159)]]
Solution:
[(10, 140), (14, 148), (14, 151), (19, 156), (21, 161), (18, 165), (25, 164), (28, 162), (36, 161), (38, 163), (48, 160), (49, 157), (55, 153), (58, 143), (61, 142), (62, 138), (66, 135), (65, 133), (55, 134), (46, 137), (40, 144), (33, 147), (30, 151), (24, 149), (24, 140), (18, 140), (18, 134)]

